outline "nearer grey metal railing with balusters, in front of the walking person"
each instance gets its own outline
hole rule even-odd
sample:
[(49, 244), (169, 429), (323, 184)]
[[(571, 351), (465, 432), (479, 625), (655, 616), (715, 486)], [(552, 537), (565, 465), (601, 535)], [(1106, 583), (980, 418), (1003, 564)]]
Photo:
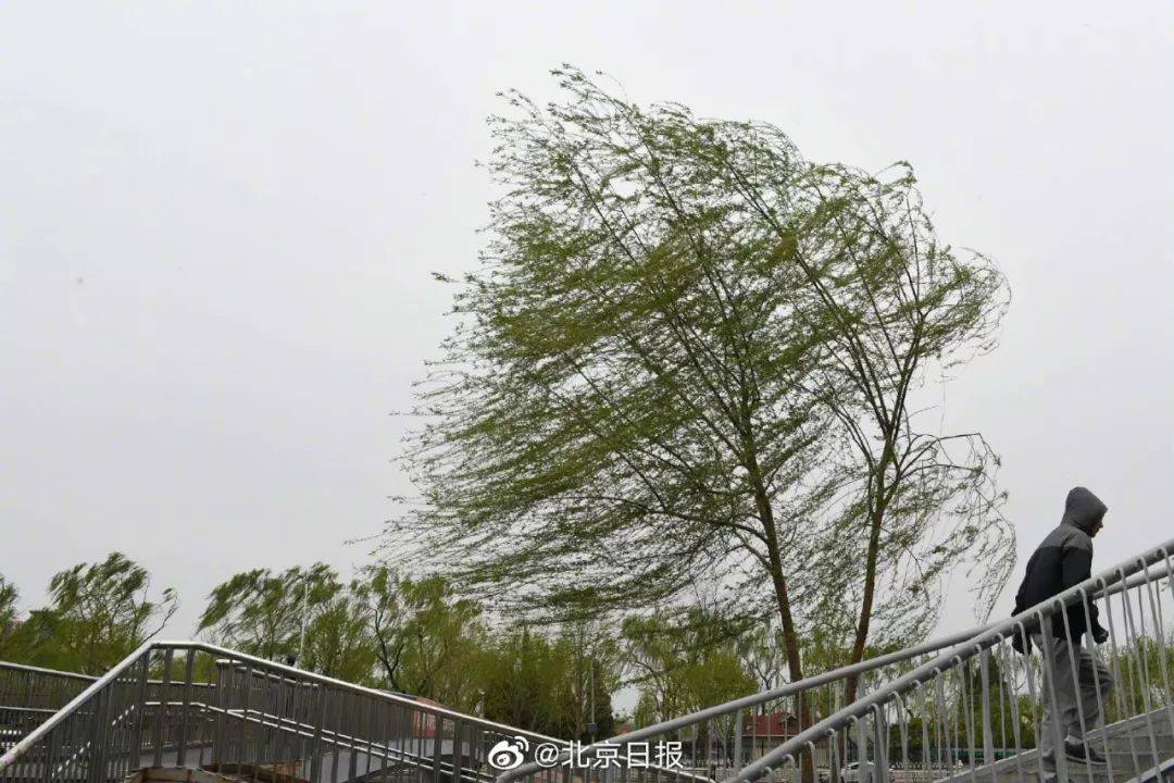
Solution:
[[(1160, 779), (1174, 757), (1172, 551), (1174, 540), (989, 626), (727, 783), (807, 778), (821, 754), (832, 782)], [(1091, 605), (1107, 630), (1095, 648), (1070, 617), (1092, 627)], [(1017, 637), (1034, 652), (1012, 649)]]

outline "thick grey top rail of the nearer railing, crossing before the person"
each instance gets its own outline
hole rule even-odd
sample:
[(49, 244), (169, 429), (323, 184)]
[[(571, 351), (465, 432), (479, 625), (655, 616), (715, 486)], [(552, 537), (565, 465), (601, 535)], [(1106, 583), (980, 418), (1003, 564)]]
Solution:
[[(993, 647), (998, 642), (1003, 641), (1008, 636), (1008, 634), (1025, 634), (1025, 622), (1033, 623), (1034, 620), (1039, 620), (1043, 625), (1045, 614), (1052, 616), (1061, 613), (1066, 607), (1087, 600), (1091, 596), (1102, 594), (1111, 595), (1122, 589), (1128, 589), (1129, 587), (1145, 583), (1146, 581), (1153, 579), (1153, 572), (1149, 571), (1149, 567), (1154, 563), (1165, 561), (1167, 563), (1166, 571), (1168, 572), (1170, 551), (1174, 551), (1174, 539), (1153, 547), (1139, 556), (1124, 560), (1116, 566), (1102, 571), (1095, 576), (1091, 576), (1058, 595), (1054, 595), (1045, 601), (1040, 601), (1035, 606), (1030, 607), (1012, 617), (991, 623), (963, 644), (943, 653), (932, 661), (929, 661), (912, 671), (897, 677), (892, 682), (877, 688), (872, 693), (856, 700), (851, 704), (848, 704), (839, 711), (815, 723), (803, 731), (799, 731), (797, 735), (782, 743), (767, 755), (743, 767), (737, 774), (726, 778), (724, 783), (744, 783), (747, 781), (756, 779), (761, 775), (769, 772), (784, 760), (794, 758), (796, 752), (802, 750), (804, 747), (815, 743), (824, 736), (834, 736), (837, 729), (844, 728), (852, 721), (859, 720), (869, 711), (891, 700), (893, 696), (910, 690), (920, 684), (923, 681), (942, 674), (945, 669), (953, 668), (954, 666), (970, 660), (984, 649)], [(1169, 573), (1166, 573), (1165, 576), (1174, 578), (1174, 575)], [(1162, 575), (1160, 574), (1156, 578), (1161, 579)], [(1111, 580), (1114, 585), (1119, 585), (1120, 587), (1114, 589), (1113, 586), (1109, 585)]]

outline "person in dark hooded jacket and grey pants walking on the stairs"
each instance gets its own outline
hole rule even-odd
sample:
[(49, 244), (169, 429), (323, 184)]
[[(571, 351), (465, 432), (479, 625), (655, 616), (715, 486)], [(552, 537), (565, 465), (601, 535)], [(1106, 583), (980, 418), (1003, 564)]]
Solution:
[[(1085, 487), (1068, 492), (1060, 526), (1047, 534), (1027, 561), (1024, 581), (1016, 594), (1014, 614), (1092, 578), (1093, 538), (1105, 526), (1106, 511), (1108, 507)], [(1039, 620), (1025, 622), (1024, 632), (1016, 632), (1012, 646), (1024, 654), (1028, 654), (1032, 646), (1044, 650), (1047, 641), (1045, 632), (1050, 633), (1052, 642), (1052, 660), (1044, 666), (1041, 691), (1044, 736), (1039, 748), (1045, 769), (1055, 770), (1057, 738), (1062, 738), (1067, 760), (1102, 765), (1105, 756), (1085, 742), (1085, 731), (1095, 725), (1113, 688), (1108, 667), (1081, 646), (1085, 634), (1091, 634), (1098, 644), (1108, 639), (1108, 632), (1099, 622), (1092, 595), (1070, 606), (1062, 615), (1045, 615), (1043, 627)], [(1073, 668), (1075, 679), (1072, 676)]]

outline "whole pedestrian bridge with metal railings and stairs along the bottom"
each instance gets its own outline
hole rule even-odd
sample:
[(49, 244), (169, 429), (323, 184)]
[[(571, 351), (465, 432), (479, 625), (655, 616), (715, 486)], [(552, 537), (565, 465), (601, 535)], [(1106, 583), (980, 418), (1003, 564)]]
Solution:
[[(200, 641), (101, 677), (0, 663), (0, 781), (338, 783), (1174, 782), (1174, 540), (1041, 605), (855, 666), (578, 747)], [(1094, 601), (1112, 689), (1077, 703), (1089, 765), (1053, 731), (1054, 646), (1011, 642)], [(1095, 675), (1094, 675), (1095, 676)], [(855, 698), (849, 683), (855, 683)], [(1053, 710), (1057, 711), (1057, 710)]]

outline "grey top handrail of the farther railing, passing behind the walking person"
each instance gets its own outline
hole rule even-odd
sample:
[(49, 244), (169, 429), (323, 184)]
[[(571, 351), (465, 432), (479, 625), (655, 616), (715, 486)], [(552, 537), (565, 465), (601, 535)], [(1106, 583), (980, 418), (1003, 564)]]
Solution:
[[(1101, 595), (1114, 595), (1124, 589), (1132, 589), (1143, 583), (1148, 574), (1140, 573), (1134, 574), (1124, 582), (1116, 582), (1111, 586), (1105, 586), (1095, 593), (1097, 596)], [(886, 653), (884, 655), (877, 655), (876, 657), (870, 657), (857, 663), (850, 663), (842, 666), (837, 669), (831, 669), (829, 671), (823, 671), (809, 677), (804, 677), (797, 682), (790, 682), (777, 688), (771, 688), (768, 690), (762, 690), (756, 694), (750, 694), (749, 696), (742, 696), (729, 702), (723, 702), (721, 704), (715, 704), (713, 707), (706, 707), (700, 710), (695, 710), (687, 715), (681, 715), (679, 717), (669, 718), (668, 721), (661, 721), (660, 723), (654, 723), (652, 725), (645, 727), (642, 729), (635, 729), (626, 734), (620, 734), (607, 740), (600, 740), (599, 742), (592, 743), (589, 745), (583, 745), (576, 756), (580, 758), (592, 758), (594, 757), (601, 747), (614, 747), (630, 744), (634, 742), (642, 742), (643, 740), (655, 737), (662, 734), (675, 731), (677, 729), (686, 728), (694, 723), (700, 723), (702, 721), (709, 721), (715, 717), (721, 717), (723, 715), (729, 715), (730, 713), (736, 713), (741, 709), (747, 709), (749, 707), (758, 707), (765, 702), (771, 702), (778, 698), (784, 698), (787, 696), (794, 696), (795, 694), (802, 693), (804, 690), (810, 690), (812, 688), (818, 688), (831, 682), (844, 680), (846, 677), (857, 676), (861, 674), (866, 674), (869, 671), (879, 669), (882, 667), (889, 666), (891, 663), (900, 663), (902, 661), (908, 661), (910, 659), (917, 657), (919, 655), (927, 655), (930, 653), (936, 653), (938, 650), (945, 649), (947, 647), (954, 647), (965, 643), (979, 634), (994, 628), (999, 625), (999, 621), (989, 622), (984, 626), (976, 626), (966, 630), (959, 630), (952, 634), (946, 634), (937, 639), (922, 642), (920, 644), (915, 644), (912, 647), (906, 647), (893, 653)], [(529, 762), (518, 767), (517, 769), (508, 770), (498, 776), (498, 783), (510, 783), (510, 781), (518, 779), (526, 775), (538, 772), (545, 767), (538, 764), (537, 762)]]

